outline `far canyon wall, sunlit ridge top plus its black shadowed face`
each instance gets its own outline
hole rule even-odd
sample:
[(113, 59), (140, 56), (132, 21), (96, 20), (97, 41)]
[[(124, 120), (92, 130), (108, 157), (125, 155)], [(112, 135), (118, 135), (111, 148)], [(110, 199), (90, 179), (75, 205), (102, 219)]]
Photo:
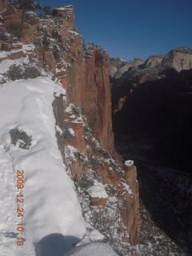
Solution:
[[(119, 62), (112, 59), (110, 66)], [(114, 132), (147, 134), (150, 159), (191, 173), (192, 50), (151, 56), (111, 79)]]

